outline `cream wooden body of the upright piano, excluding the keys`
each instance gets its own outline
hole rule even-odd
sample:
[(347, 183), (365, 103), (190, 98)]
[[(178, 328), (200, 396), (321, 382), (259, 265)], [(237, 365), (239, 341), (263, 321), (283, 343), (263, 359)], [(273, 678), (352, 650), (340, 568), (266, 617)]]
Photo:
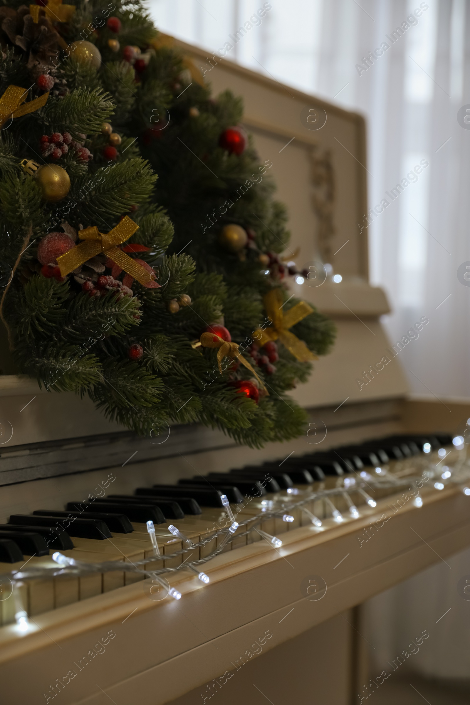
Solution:
[[(390, 345), (380, 323), (389, 311), (385, 293), (368, 280), (364, 119), (181, 47), (206, 71), (215, 93), (229, 87), (243, 96), (245, 126), (261, 161), (272, 163), (267, 173), (289, 209), (297, 264), (308, 269), (322, 259), (342, 275), (340, 283), (292, 285), (292, 293), (338, 327), (333, 352), (292, 395), (311, 413), (309, 434), (263, 450), (199, 427), (175, 426), (158, 438), (137, 439), (107, 422), (89, 400), (49, 394), (35, 381), (8, 374), (13, 370), (4, 354), (1, 522), (37, 508), (62, 510), (104, 486), (108, 493), (131, 494), (137, 486), (175, 483), (195, 472), (225, 472), (364, 439), (453, 432), (470, 415), (466, 405), (454, 404), (450, 422), (440, 405), (409, 400), (395, 359), (371, 384), (357, 383)], [(312, 110), (326, 111), (320, 130), (305, 121)], [(421, 508), (409, 502), (397, 510), (387, 529), (359, 550), (358, 537), (394, 501), (388, 496), (375, 508), (362, 505), (359, 518), (341, 525), (326, 516), (321, 531), (297, 522), (285, 527), (278, 549), (268, 541), (234, 547), (205, 565), (209, 584), (179, 572), (171, 578), (179, 601), (151, 599), (147, 582), (128, 580), (127, 573), (109, 575), (104, 592), (95, 584), (89, 597), (85, 581), (58, 578), (52, 591), (44, 586), (48, 611), (26, 595), (30, 623), (19, 632), (8, 624), (8, 599), (0, 596), (1, 701), (183, 705), (218, 697), (255, 703), (264, 698), (253, 684), (268, 676), (276, 702), (350, 703), (358, 683), (366, 682), (357, 632), (361, 603), (434, 563), (433, 551), (445, 557), (470, 542), (468, 500), (449, 485), (423, 493)], [(410, 522), (423, 540), (409, 532)], [(326, 593), (308, 599), (306, 581), (315, 580), (324, 581)], [(41, 596), (39, 585), (35, 599)]]

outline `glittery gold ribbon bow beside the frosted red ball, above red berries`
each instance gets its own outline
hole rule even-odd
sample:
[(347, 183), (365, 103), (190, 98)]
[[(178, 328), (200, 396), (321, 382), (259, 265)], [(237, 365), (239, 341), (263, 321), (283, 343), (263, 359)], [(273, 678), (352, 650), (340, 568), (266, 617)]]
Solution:
[(89, 259), (104, 252), (106, 257), (112, 259), (120, 266), (120, 269), (127, 271), (130, 276), (137, 279), (142, 286), (155, 281), (155, 275), (144, 269), (142, 264), (135, 262), (132, 257), (126, 255), (117, 245), (125, 243), (131, 235), (139, 229), (139, 226), (132, 221), (129, 216), (125, 216), (109, 233), (100, 233), (98, 228), (85, 228), (80, 230), (78, 236), (84, 243), (72, 247), (71, 250), (57, 257), (57, 264), (61, 270), (61, 275), (66, 276), (74, 269), (78, 269), (81, 264), (85, 264)]

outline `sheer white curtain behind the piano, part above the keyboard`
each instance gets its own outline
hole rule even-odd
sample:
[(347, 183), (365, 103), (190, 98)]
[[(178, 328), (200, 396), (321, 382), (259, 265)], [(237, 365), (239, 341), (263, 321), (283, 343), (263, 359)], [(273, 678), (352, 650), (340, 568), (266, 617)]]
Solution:
[(389, 202), (369, 226), (371, 281), (393, 309), (384, 323), (396, 341), (430, 320), (402, 353), (415, 393), (470, 396), (470, 288), (457, 279), (470, 260), (470, 130), (457, 122), (470, 104), (469, 2), (149, 1), (161, 30), (211, 52), (263, 5), (226, 58), (366, 116), (369, 207)]

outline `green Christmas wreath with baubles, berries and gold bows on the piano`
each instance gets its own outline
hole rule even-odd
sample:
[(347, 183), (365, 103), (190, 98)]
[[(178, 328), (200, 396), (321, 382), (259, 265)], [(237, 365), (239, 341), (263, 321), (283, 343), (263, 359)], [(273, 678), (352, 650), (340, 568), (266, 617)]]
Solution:
[(18, 368), (140, 434), (301, 433), (285, 393), (334, 327), (287, 293), (287, 216), (240, 99), (212, 99), (139, 1), (7, 1), (0, 27), (0, 319)]

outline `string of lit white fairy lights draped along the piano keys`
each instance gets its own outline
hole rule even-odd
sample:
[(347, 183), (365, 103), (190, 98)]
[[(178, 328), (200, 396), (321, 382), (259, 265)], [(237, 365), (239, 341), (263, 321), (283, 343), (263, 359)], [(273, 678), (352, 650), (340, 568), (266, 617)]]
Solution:
[[(463, 443), (463, 441), (462, 441)], [(455, 445), (455, 444), (454, 444)], [(463, 447), (463, 446), (462, 446)], [(426, 452), (426, 449), (425, 449)], [(441, 452), (439, 451), (439, 455)], [(447, 457), (443, 455), (442, 458)], [(423, 465), (424, 458), (421, 457), (421, 463)], [(427, 460), (427, 458), (426, 458)], [(154, 527), (154, 522), (147, 522), (147, 532), (149, 534), (149, 539), (151, 541), (153, 555), (146, 556), (141, 560), (135, 560), (133, 562), (127, 562), (124, 560), (108, 560), (101, 563), (86, 563), (85, 561), (75, 560), (70, 556), (65, 556), (63, 553), (56, 551), (53, 553), (52, 558), (55, 565), (48, 567), (35, 567), (34, 565), (30, 567), (23, 567), (20, 570), (13, 570), (10, 573), (5, 573), (0, 575), (0, 584), (4, 584), (6, 581), (10, 581), (12, 584), (12, 595), (15, 601), (15, 621), (16, 627), (19, 632), (27, 632), (30, 630), (30, 620), (27, 615), (23, 604), (23, 598), (20, 592), (20, 587), (23, 587), (25, 583), (30, 580), (47, 580), (52, 578), (60, 577), (83, 577), (90, 575), (92, 573), (105, 573), (105, 572), (115, 572), (118, 570), (123, 570), (127, 573), (137, 573), (142, 576), (142, 579), (146, 577), (151, 578), (152, 583), (159, 584), (163, 591), (166, 591), (164, 597), (169, 596), (175, 600), (181, 598), (181, 592), (175, 587), (171, 587), (168, 584), (166, 578), (163, 575), (173, 575), (182, 570), (189, 570), (190, 572), (197, 575), (198, 579), (203, 583), (207, 584), (210, 582), (209, 576), (202, 570), (204, 564), (208, 563), (209, 560), (215, 558), (220, 553), (224, 551), (228, 544), (232, 541), (240, 539), (242, 537), (252, 534), (252, 532), (257, 532), (261, 539), (268, 541), (273, 549), (279, 549), (283, 545), (283, 541), (276, 536), (268, 534), (264, 529), (261, 529), (261, 525), (268, 522), (271, 519), (280, 519), (287, 525), (295, 522), (295, 511), (300, 510), (303, 517), (305, 517), (309, 525), (312, 528), (319, 531), (328, 529), (328, 526), (324, 525), (325, 519), (321, 519), (311, 512), (311, 509), (307, 505), (314, 505), (314, 503), (322, 502), (326, 506), (326, 514), (333, 520), (333, 525), (338, 525), (345, 520), (356, 520), (361, 516), (361, 512), (357, 508), (357, 505), (353, 502), (352, 496), (355, 494), (359, 496), (364, 503), (370, 507), (376, 507), (376, 500), (368, 494), (369, 491), (381, 491), (381, 490), (395, 490), (400, 491), (405, 486), (409, 487), (411, 492), (412, 487), (415, 489), (416, 494), (412, 497), (414, 505), (416, 507), (421, 507), (423, 501), (419, 495), (419, 489), (426, 482), (426, 487), (431, 487), (435, 491), (442, 491), (445, 486), (451, 484), (452, 486), (460, 486), (462, 492), (466, 496), (470, 496), (470, 487), (468, 483), (470, 481), (470, 465), (466, 464), (466, 453), (460, 455), (452, 465), (452, 470), (450, 470), (447, 465), (439, 467), (440, 462), (433, 464), (432, 462), (426, 462), (423, 465), (424, 470), (421, 475), (406, 475), (402, 477), (400, 474), (392, 474), (388, 469), (383, 467), (376, 467), (375, 472), (372, 474), (366, 471), (358, 472), (356, 477), (345, 477), (342, 480), (340, 486), (336, 486), (332, 489), (318, 489), (316, 491), (304, 491), (297, 488), (287, 489), (287, 496), (282, 498), (273, 498), (271, 500), (261, 501), (261, 512), (252, 516), (242, 519), (237, 515), (234, 515), (233, 509), (228, 502), (228, 498), (223, 495), (221, 497), (223, 502), (223, 510), (225, 511), (225, 516), (228, 520), (227, 525), (220, 526), (215, 530), (212, 530), (206, 538), (202, 541), (192, 541), (192, 539), (185, 536), (183, 532), (170, 525), (168, 527), (169, 532), (173, 534), (175, 539), (180, 539), (182, 542), (182, 548), (173, 553), (162, 554), (159, 548), (159, 543), (157, 541), (156, 531)], [(414, 459), (414, 465), (416, 465), (416, 459)], [(400, 465), (395, 465), (395, 470), (399, 470)], [(406, 472), (406, 466), (405, 470)], [(467, 484), (466, 484), (467, 483)], [(390, 493), (388, 493), (390, 494)], [(347, 507), (345, 516), (345, 510), (340, 511), (333, 503), (334, 498), (342, 498), (343, 503)], [(241, 510), (243, 512), (243, 509)], [(323, 513), (323, 512), (322, 512)], [(237, 517), (240, 521), (237, 521)], [(304, 523), (302, 522), (302, 526)], [(244, 529), (245, 530), (240, 530)], [(178, 558), (199, 549), (204, 549), (208, 544), (216, 540), (216, 548), (209, 551), (206, 556), (199, 558), (197, 560), (185, 561), (175, 568), (170, 568), (168, 565), (163, 565), (165, 561), (169, 561), (172, 558)], [(156, 563), (156, 567), (149, 568), (149, 564)], [(161, 563), (161, 567), (158, 566)]]

